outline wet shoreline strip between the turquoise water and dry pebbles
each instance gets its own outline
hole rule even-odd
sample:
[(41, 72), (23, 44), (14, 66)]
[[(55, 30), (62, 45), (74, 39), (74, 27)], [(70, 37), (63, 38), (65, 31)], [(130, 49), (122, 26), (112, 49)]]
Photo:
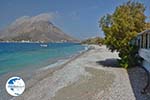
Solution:
[[(26, 90), (28, 90), (33, 85), (35, 85), (38, 81), (41, 81), (43, 78), (47, 77), (48, 75), (51, 75), (53, 72), (62, 69), (66, 64), (77, 59), (79, 56), (83, 55), (84, 53), (86, 53), (88, 51), (89, 51), (89, 48), (81, 50), (81, 51), (77, 52), (76, 54), (73, 54), (73, 55), (65, 57), (65, 58), (61, 58), (61, 59), (55, 61), (54, 63), (49, 64), (48, 66), (38, 68), (37, 70), (32, 71), (32, 73), (28, 72), (28, 71), (24, 71), (24, 70), (23, 71), (18, 70), (15, 72), (2, 74), (0, 77), (0, 80), (1, 80), (0, 83), (2, 83), (0, 86), (0, 89), (1, 89), (0, 97), (3, 97), (3, 99), (8, 99), (8, 100), (13, 98), (5, 91), (5, 82), (7, 81), (8, 78), (10, 78), (14, 75), (23, 78), (23, 80), (25, 81), (25, 84), (26, 84)], [(5, 96), (7, 98), (5, 98)]]

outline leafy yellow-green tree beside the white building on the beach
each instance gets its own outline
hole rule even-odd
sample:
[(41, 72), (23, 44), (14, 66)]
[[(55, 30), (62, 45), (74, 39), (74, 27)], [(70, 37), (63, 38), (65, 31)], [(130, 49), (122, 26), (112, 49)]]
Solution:
[(145, 6), (142, 3), (128, 1), (116, 7), (114, 13), (100, 19), (100, 27), (105, 33), (105, 44), (111, 51), (119, 52), (122, 67), (127, 68), (136, 63), (131, 54), (135, 48), (129, 42), (145, 28), (144, 11)]

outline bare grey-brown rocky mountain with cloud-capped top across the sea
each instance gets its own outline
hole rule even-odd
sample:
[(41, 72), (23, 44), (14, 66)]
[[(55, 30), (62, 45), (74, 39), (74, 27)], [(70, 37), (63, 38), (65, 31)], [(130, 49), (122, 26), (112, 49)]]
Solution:
[[(45, 16), (45, 15), (44, 15)], [(24, 16), (0, 31), (0, 41), (76, 42), (52, 24), (47, 17)]]

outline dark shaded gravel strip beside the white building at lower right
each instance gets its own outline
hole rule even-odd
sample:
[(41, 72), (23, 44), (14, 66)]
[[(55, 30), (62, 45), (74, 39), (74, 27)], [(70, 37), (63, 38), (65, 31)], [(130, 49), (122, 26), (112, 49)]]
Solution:
[(145, 71), (140, 67), (129, 68), (128, 75), (136, 100), (150, 100), (150, 88), (147, 89), (146, 94), (141, 93), (147, 81)]

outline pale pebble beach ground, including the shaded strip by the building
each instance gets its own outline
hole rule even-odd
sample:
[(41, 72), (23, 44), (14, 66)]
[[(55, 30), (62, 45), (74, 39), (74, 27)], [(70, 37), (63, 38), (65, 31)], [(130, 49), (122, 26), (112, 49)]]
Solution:
[(140, 94), (143, 70), (119, 68), (116, 52), (92, 48), (12, 100), (150, 100)]

